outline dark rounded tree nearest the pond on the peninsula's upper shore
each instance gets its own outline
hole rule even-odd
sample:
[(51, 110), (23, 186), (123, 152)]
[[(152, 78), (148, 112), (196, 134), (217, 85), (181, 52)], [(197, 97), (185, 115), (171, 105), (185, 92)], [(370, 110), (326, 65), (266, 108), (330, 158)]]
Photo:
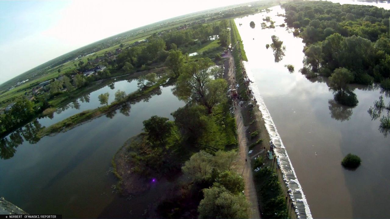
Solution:
[(168, 118), (159, 116), (152, 116), (142, 123), (144, 124), (145, 132), (147, 132), (147, 139), (152, 145), (164, 143), (173, 127), (172, 122), (169, 122)]

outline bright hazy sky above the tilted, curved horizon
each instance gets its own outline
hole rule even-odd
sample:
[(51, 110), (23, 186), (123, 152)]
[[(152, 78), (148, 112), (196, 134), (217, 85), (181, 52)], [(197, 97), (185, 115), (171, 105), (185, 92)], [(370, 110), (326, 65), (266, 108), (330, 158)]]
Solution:
[(0, 1), (0, 84), (106, 37), (250, 0)]

